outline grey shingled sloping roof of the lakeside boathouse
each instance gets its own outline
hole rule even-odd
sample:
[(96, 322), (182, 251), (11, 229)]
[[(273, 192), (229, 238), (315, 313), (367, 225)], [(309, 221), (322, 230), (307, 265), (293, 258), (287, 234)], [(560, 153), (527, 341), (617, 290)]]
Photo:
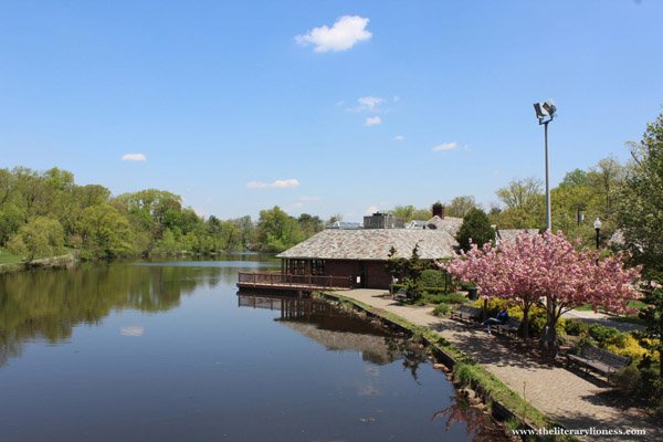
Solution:
[(410, 257), (419, 244), (423, 260), (439, 260), (455, 254), (456, 241), (444, 230), (364, 229), (323, 230), (292, 249), (276, 255), (287, 259), (387, 261), (389, 249), (398, 257)]

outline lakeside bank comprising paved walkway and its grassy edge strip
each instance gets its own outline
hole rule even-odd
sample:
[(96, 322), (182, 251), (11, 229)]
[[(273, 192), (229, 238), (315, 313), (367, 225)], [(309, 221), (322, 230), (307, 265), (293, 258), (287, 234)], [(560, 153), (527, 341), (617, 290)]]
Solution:
[[(440, 360), (453, 367), (461, 383), (472, 386), (488, 403), (504, 407), (527, 427), (644, 429), (646, 438), (630, 440), (663, 436), (662, 429), (642, 410), (629, 407), (612, 389), (536, 360), (511, 339), (490, 337), (481, 328), (433, 316), (431, 307), (401, 305), (380, 291), (332, 292), (325, 296), (421, 335)], [(619, 440), (629, 439), (622, 435)]]

